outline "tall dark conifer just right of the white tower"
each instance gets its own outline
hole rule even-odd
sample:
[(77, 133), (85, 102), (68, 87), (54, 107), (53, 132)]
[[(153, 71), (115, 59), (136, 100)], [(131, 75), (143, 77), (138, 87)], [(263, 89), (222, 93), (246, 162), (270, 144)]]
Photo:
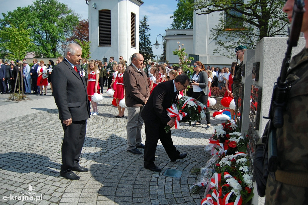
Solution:
[(143, 55), (144, 60), (150, 60), (156, 57), (152, 50), (150, 30), (147, 24), (147, 16), (144, 16), (139, 25), (139, 53)]

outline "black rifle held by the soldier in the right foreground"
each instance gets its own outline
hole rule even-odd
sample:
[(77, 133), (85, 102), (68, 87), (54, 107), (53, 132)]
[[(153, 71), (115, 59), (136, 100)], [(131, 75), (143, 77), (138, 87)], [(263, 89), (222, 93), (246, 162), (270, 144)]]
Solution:
[[(265, 138), (265, 152), (264, 158), (267, 154), (268, 167), (267, 170), (270, 172), (275, 172), (277, 170), (277, 140), (276, 140), (276, 130), (282, 128), (283, 126), (283, 111), (286, 108), (286, 99), (288, 96), (288, 91), (290, 90), (290, 84), (286, 81), (287, 71), (290, 65), (292, 47), (297, 46), (299, 34), (301, 32), (304, 9), (304, 0), (295, 0), (293, 7), (292, 23), (290, 29), (289, 39), (287, 41), (287, 51), (285, 58), (282, 61), (282, 67), (280, 71), (280, 76), (277, 82), (274, 83), (272, 100), (270, 104), (269, 117), (264, 117), (270, 119), (269, 121), (269, 132)], [(266, 162), (265, 162), (266, 163)]]

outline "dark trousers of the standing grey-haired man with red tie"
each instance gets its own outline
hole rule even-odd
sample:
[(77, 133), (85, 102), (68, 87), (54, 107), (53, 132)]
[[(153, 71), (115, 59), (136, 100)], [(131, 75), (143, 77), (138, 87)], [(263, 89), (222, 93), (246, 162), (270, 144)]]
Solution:
[(87, 120), (75, 121), (69, 126), (63, 124), (63, 121), (61, 123), (64, 130), (61, 173), (70, 173), (73, 167), (79, 167), (79, 157), (86, 137)]

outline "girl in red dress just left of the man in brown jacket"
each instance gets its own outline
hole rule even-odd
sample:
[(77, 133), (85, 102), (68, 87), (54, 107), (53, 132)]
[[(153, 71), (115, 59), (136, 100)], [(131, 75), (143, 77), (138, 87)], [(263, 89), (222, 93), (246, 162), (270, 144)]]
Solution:
[(123, 73), (125, 71), (125, 65), (123, 63), (118, 64), (118, 71), (116, 78), (116, 89), (115, 93), (113, 94), (113, 97), (115, 98), (116, 104), (118, 106), (119, 114), (115, 117), (124, 117), (124, 110), (125, 108), (121, 108), (119, 105), (120, 100), (122, 100), (125, 97), (125, 90), (124, 90), (124, 84), (123, 84)]

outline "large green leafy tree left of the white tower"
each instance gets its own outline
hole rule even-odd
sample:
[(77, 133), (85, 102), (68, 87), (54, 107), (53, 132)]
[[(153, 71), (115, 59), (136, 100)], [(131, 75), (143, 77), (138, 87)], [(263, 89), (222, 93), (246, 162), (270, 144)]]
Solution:
[(1, 28), (14, 25), (19, 28), (25, 22), (31, 29), (31, 40), (34, 46), (29, 51), (36, 57), (57, 57), (60, 47), (66, 38), (72, 35), (73, 28), (78, 24), (78, 16), (67, 5), (56, 0), (37, 0), (33, 5), (18, 7), (13, 12), (2, 13)]

